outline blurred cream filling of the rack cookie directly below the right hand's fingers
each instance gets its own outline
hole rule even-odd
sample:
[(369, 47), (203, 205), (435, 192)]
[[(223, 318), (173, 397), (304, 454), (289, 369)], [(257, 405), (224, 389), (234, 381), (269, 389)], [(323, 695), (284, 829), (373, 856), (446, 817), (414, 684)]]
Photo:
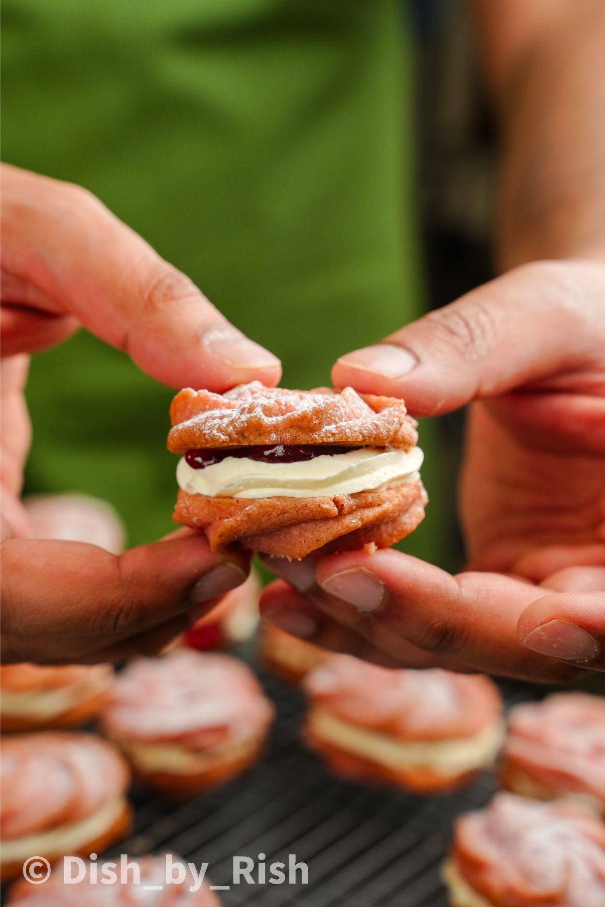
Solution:
[(363, 756), (388, 768), (422, 766), (440, 775), (458, 775), (489, 766), (503, 741), (503, 722), (499, 719), (479, 734), (438, 741), (404, 741), (392, 736), (355, 727), (334, 717), (324, 708), (314, 708), (308, 718), (311, 730), (328, 743), (356, 756)]

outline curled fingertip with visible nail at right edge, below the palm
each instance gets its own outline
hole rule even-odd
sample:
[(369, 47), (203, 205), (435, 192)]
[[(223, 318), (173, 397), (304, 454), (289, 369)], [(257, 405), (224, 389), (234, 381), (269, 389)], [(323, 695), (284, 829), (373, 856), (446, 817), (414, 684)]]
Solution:
[(545, 595), (526, 608), (519, 641), (541, 655), (605, 670), (605, 591)]

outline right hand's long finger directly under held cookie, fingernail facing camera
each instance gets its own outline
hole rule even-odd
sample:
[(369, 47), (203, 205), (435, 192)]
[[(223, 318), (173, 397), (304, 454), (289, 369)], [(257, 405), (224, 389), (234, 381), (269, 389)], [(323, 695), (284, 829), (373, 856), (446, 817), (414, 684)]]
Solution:
[(396, 634), (444, 661), (455, 658), (469, 671), (544, 681), (579, 673), (519, 642), (519, 616), (545, 594), (524, 580), (479, 572), (454, 577), (387, 550), (329, 555), (317, 564), (317, 583), (325, 593), (317, 604), (366, 637)]

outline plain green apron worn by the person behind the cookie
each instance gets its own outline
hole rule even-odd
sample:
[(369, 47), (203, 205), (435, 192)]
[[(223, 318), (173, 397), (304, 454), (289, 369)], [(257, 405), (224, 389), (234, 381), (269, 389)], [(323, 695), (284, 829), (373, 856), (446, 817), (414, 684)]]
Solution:
[[(285, 386), (327, 384), (422, 309), (406, 13), (5, 0), (4, 159), (92, 190), (282, 359)], [(27, 491), (107, 499), (132, 544), (171, 530), (171, 390), (80, 332), (34, 356), (27, 395)], [(423, 475), (437, 500), (404, 547), (442, 561), (434, 453)]]

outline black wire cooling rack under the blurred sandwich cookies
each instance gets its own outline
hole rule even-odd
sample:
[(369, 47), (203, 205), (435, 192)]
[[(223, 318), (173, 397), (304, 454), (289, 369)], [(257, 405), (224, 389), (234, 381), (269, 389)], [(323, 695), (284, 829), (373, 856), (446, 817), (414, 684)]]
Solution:
[[(252, 664), (278, 708), (267, 756), (246, 775), (190, 802), (167, 805), (133, 791), (132, 837), (114, 853), (163, 851), (208, 877), (224, 907), (445, 907), (440, 865), (457, 815), (493, 795), (493, 775), (452, 795), (420, 797), (341, 781), (299, 743), (304, 701), (299, 691), (259, 666), (249, 647), (234, 654)], [(507, 705), (538, 692), (504, 685)], [(308, 866), (308, 883), (233, 883), (233, 856), (255, 864)], [(255, 866), (256, 869), (256, 866)], [(253, 871), (253, 877), (258, 878)]]

